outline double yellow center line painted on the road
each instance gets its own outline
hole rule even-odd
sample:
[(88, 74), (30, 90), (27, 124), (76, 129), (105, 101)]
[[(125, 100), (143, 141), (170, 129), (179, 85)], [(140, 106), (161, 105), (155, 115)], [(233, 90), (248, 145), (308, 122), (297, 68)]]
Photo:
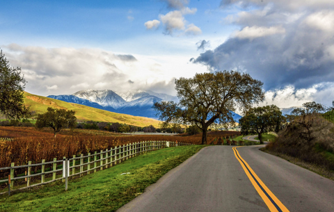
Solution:
[(289, 211), (287, 208), (280, 202), (279, 199), (273, 193), (271, 193), (271, 190), (267, 188), (267, 186), (262, 182), (262, 180), (257, 177), (255, 172), (250, 168), (248, 163), (241, 158), (237, 147), (233, 147), (234, 156), (237, 158), (239, 163), (241, 164), (241, 167), (244, 169), (244, 171), (247, 174), (248, 179), (253, 184), (254, 188), (257, 190), (257, 193), (259, 193), (260, 197), (262, 197), (265, 204), (267, 204), (270, 211)]

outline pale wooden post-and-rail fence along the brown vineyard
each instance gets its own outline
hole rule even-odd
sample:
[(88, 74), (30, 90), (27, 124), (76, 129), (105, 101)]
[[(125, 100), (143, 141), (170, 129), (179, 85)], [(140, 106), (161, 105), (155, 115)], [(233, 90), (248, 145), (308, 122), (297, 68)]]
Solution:
[[(8, 192), (2, 192), (0, 195), (8, 193), (13, 190), (22, 190), (25, 188), (31, 188), (33, 186), (40, 186), (44, 184), (49, 184), (54, 181), (63, 180), (65, 181), (65, 190), (67, 190), (67, 180), (68, 177), (74, 177), (79, 175), (79, 177), (84, 174), (90, 174), (90, 172), (96, 172), (97, 170), (103, 170), (109, 168), (113, 165), (126, 161), (128, 158), (132, 158), (141, 154), (143, 152), (149, 152), (164, 147), (177, 147), (177, 146), (186, 146), (193, 145), (183, 142), (170, 142), (170, 141), (145, 141), (145, 142), (135, 142), (127, 145), (120, 145), (111, 149), (106, 149), (105, 151), (101, 150), (100, 152), (94, 152), (94, 154), (88, 153), (84, 156), (73, 156), (72, 158), (63, 157), (62, 160), (57, 160), (54, 158), (54, 161), (45, 162), (42, 160), (42, 163), (32, 164), (31, 161), (28, 162), (28, 165), (18, 165), (15, 166), (15, 163), (11, 163), (10, 167), (0, 168), (0, 172), (8, 172), (8, 178), (0, 179), (0, 184), (8, 184)], [(49, 166), (49, 168), (45, 168)], [(33, 173), (31, 168), (37, 168), (38, 173)], [(19, 173), (15, 173), (19, 170)], [(22, 174), (23, 173), (23, 174)], [(16, 177), (15, 177), (16, 175)], [(40, 177), (39, 180), (36, 177)], [(40, 183), (31, 184), (32, 179), (35, 181), (40, 181)], [(23, 180), (26, 181), (26, 186), (21, 188), (14, 188), (14, 182)], [(25, 183), (24, 183), (25, 184)]]

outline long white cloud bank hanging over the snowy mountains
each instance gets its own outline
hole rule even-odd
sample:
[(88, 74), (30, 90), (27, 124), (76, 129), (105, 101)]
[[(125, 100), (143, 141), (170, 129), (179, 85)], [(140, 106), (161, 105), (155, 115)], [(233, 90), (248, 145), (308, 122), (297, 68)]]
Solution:
[[(26, 91), (36, 95), (70, 95), (83, 89), (164, 91), (175, 95), (173, 79), (191, 77), (205, 67), (188, 56), (115, 54), (103, 49), (1, 47), (10, 65), (21, 67)], [(129, 83), (129, 79), (135, 83)], [(159, 88), (158, 88), (159, 87)]]

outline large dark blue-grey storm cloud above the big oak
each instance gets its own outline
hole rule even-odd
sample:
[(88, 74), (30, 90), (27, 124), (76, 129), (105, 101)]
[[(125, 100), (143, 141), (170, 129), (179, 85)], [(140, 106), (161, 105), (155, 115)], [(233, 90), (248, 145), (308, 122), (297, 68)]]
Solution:
[[(230, 0), (222, 4), (240, 2)], [(255, 2), (241, 3), (248, 6)], [(293, 3), (287, 1), (284, 7), (281, 1), (262, 2), (265, 5), (260, 3), (255, 10), (228, 17), (230, 22), (241, 26), (241, 30), (192, 62), (207, 65), (212, 71), (248, 72), (263, 81), (266, 90), (286, 85), (310, 88), (334, 81), (333, 3), (325, 10), (317, 1), (310, 1), (304, 7), (300, 1), (303, 10), (297, 11)]]

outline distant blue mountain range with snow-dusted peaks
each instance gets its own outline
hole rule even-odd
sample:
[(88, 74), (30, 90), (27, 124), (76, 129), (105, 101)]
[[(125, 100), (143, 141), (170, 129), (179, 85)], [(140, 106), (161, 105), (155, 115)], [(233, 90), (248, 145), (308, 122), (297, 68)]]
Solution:
[[(178, 101), (175, 96), (152, 92), (150, 90), (129, 90), (126, 92), (113, 90), (80, 90), (72, 95), (49, 95), (47, 97), (99, 108), (105, 111), (154, 119), (157, 119), (156, 112), (152, 108), (155, 102)], [(240, 118), (241, 115), (234, 113), (235, 121), (239, 122)]]

